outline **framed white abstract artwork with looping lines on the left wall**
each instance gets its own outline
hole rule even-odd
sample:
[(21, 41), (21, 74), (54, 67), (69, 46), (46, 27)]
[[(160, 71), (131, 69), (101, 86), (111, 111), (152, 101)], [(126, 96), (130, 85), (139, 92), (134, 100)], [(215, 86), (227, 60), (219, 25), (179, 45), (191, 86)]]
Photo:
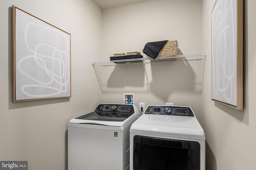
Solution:
[(13, 8), (14, 100), (70, 97), (70, 34)]

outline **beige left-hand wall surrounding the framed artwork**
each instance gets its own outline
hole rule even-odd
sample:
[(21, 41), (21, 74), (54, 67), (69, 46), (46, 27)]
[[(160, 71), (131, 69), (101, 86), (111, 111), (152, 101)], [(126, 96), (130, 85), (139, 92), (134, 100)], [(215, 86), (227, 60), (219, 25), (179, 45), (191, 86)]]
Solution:
[[(12, 5), (71, 34), (71, 98), (12, 102)], [(0, 161), (67, 169), (67, 125), (102, 101), (92, 64), (101, 59), (102, 11), (92, 0), (0, 1)]]

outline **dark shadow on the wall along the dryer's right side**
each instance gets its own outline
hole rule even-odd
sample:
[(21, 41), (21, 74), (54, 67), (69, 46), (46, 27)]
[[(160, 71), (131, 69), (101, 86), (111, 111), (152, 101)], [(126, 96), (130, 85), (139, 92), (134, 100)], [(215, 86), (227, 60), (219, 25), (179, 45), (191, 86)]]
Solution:
[(205, 150), (206, 150), (206, 166), (205, 169), (206, 170), (217, 170), (217, 162), (216, 162), (216, 158), (210, 148), (210, 146), (208, 145), (208, 143), (206, 142), (205, 144)]

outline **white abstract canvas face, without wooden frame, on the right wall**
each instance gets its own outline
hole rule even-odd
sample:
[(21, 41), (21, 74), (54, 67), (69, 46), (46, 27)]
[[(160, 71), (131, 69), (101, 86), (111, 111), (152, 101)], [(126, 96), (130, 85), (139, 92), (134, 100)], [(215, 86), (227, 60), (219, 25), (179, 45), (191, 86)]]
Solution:
[(236, 106), (237, 1), (217, 0), (212, 11), (212, 99)]

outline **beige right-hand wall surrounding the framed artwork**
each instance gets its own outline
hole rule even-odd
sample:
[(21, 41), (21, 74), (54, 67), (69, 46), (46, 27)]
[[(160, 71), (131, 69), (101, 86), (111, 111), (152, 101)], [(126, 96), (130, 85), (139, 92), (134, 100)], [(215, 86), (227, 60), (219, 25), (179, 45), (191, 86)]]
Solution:
[[(244, 2), (244, 109), (211, 100), (211, 59), (206, 59), (202, 92), (202, 125), (206, 135), (207, 170), (256, 169), (256, 1)], [(202, 1), (202, 49), (211, 51), (211, 12), (215, 0)]]

